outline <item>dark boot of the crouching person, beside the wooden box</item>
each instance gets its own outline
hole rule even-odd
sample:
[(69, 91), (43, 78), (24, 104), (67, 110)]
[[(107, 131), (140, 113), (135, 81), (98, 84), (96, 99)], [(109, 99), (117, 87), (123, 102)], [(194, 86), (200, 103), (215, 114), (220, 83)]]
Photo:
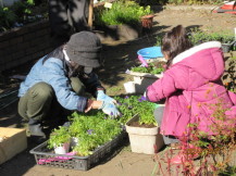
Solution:
[(38, 121), (29, 120), (28, 130), (34, 142), (41, 143), (46, 140), (46, 134), (42, 131), (41, 124)]

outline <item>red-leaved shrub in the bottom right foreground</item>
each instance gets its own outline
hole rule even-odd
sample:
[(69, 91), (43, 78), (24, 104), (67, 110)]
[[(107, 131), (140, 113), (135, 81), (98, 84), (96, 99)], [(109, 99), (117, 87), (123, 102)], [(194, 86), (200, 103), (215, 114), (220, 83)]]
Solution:
[[(208, 95), (208, 93), (207, 93)], [(204, 104), (204, 103), (203, 103)], [(203, 105), (202, 104), (202, 105)], [(188, 125), (186, 134), (181, 138), (182, 149), (185, 152), (186, 159), (188, 155), (200, 156), (200, 162), (194, 160), (187, 160), (182, 163), (182, 167), (177, 168), (177, 174), (183, 175), (235, 175), (235, 153), (236, 153), (236, 117), (225, 114), (229, 109), (227, 103), (223, 102), (220, 98), (215, 103), (204, 104), (204, 109), (209, 109), (212, 114), (209, 115), (209, 120), (212, 121), (212, 125), (209, 126), (212, 135), (201, 131), (198, 126), (201, 120), (194, 124)], [(199, 104), (201, 108), (201, 104)], [(170, 159), (173, 156), (173, 151), (167, 150), (162, 159), (156, 155), (157, 165), (163, 175), (171, 175), (172, 165)], [(162, 162), (161, 162), (162, 161)], [(166, 171), (163, 166), (163, 161), (166, 161)], [(157, 169), (157, 168), (154, 168)]]

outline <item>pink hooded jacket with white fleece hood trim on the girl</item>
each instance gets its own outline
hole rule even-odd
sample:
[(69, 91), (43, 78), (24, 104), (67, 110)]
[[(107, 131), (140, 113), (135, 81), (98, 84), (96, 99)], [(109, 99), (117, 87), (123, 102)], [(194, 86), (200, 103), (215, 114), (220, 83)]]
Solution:
[[(209, 105), (224, 101), (232, 109), (226, 114), (236, 118), (236, 95), (221, 84), (224, 61), (221, 42), (210, 41), (192, 47), (174, 58), (163, 77), (147, 88), (146, 96), (152, 102), (166, 98), (161, 133), (181, 137), (187, 133), (187, 124), (199, 123), (198, 128), (213, 134), (209, 125), (212, 110)], [(185, 135), (186, 136), (186, 135)]]

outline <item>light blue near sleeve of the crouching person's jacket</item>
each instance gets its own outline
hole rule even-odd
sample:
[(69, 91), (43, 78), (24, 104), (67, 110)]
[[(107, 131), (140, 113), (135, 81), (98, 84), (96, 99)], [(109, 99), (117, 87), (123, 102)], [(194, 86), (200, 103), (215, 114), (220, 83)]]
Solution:
[(45, 62), (41, 75), (44, 81), (52, 86), (55, 97), (63, 108), (84, 112), (87, 98), (77, 96), (72, 91), (69, 78), (65, 76), (62, 63), (59, 60)]

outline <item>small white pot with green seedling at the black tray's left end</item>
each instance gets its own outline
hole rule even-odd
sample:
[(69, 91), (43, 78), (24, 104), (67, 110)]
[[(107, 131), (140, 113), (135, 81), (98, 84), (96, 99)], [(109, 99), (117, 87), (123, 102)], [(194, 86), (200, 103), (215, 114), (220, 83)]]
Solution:
[(65, 154), (69, 152), (70, 142), (71, 135), (69, 134), (67, 127), (59, 126), (59, 128), (54, 128), (50, 134), (48, 148), (54, 149), (57, 154)]

